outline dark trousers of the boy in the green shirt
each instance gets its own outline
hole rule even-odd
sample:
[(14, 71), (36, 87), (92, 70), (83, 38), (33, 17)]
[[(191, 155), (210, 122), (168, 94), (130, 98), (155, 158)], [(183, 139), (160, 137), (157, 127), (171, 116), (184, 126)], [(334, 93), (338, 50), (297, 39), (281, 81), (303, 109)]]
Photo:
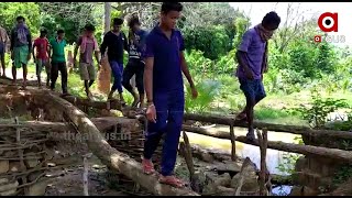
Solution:
[(51, 89), (55, 89), (55, 84), (58, 77), (58, 72), (62, 74), (62, 89), (64, 94), (67, 94), (67, 68), (66, 63), (52, 63), (52, 72), (51, 72), (51, 78), (52, 78), (52, 85)]

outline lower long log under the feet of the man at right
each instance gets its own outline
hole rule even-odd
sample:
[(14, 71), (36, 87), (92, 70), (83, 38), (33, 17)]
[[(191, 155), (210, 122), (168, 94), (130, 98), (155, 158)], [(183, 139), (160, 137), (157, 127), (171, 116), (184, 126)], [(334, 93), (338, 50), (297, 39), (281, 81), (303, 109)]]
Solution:
[[(230, 133), (221, 132), (221, 131), (210, 131), (201, 128), (193, 128), (193, 127), (183, 127), (183, 130), (186, 132), (198, 133), (202, 135), (213, 136), (218, 139), (231, 140)], [(258, 142), (255, 140), (253, 142), (249, 142), (245, 136), (237, 136), (237, 141), (258, 146)], [(300, 153), (304, 155), (316, 155), (320, 157), (329, 157), (338, 161), (350, 162), (352, 163), (352, 152), (343, 151), (338, 148), (327, 148), (319, 147), (312, 145), (300, 145), (300, 144), (292, 144), (279, 141), (267, 141), (267, 147), (278, 151), (292, 152), (292, 153)]]

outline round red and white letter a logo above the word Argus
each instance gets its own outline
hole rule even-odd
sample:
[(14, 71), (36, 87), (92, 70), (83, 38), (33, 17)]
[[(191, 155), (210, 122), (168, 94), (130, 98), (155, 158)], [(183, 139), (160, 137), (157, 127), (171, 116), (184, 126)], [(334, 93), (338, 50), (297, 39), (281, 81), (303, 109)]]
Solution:
[(338, 13), (326, 12), (318, 19), (318, 26), (323, 32), (338, 32), (339, 29)]

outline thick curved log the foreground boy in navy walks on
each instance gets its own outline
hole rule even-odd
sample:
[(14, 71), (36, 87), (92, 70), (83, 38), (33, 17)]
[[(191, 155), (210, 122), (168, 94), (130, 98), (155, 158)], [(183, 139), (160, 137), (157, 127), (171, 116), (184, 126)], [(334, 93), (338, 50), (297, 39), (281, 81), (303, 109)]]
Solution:
[(86, 114), (68, 101), (48, 94), (46, 102), (50, 102), (51, 107), (57, 107), (63, 110), (80, 132), (88, 133), (91, 136), (87, 140), (89, 150), (113, 170), (118, 170), (135, 183), (139, 183), (154, 195), (199, 196), (186, 187), (175, 188), (169, 185), (160, 184), (158, 177), (155, 174), (144, 174), (140, 163), (111, 147)]

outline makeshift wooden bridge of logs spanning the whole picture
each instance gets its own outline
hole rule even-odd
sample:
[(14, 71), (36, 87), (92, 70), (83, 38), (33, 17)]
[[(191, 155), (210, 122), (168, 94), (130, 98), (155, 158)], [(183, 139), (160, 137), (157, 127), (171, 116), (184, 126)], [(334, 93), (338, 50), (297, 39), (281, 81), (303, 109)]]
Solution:
[[(175, 195), (175, 196), (197, 196), (198, 194), (188, 188), (174, 188), (167, 185), (162, 185), (157, 182), (155, 175), (145, 175), (142, 172), (140, 163), (129, 157), (122, 152), (111, 147), (109, 143), (102, 138), (99, 130), (103, 130), (103, 124), (92, 121), (87, 118), (86, 113), (79, 110), (77, 107), (90, 107), (96, 109), (117, 109), (121, 110), (127, 118), (143, 119), (143, 116), (136, 113), (133, 108), (122, 108), (118, 102), (100, 102), (100, 101), (89, 101), (87, 99), (77, 97), (64, 97), (61, 98), (58, 94), (52, 92), (50, 90), (38, 90), (33, 87), (28, 87), (25, 90), (20, 90), (14, 86), (8, 86), (10, 84), (9, 79), (0, 79), (0, 99), (8, 101), (9, 98), (22, 97), (25, 101), (30, 100), (30, 103), (35, 108), (42, 109), (54, 109), (55, 113), (61, 114), (66, 120), (69, 121), (70, 125), (58, 123), (58, 122), (22, 122), (16, 125), (11, 124), (0, 124), (0, 133), (2, 128), (37, 128), (37, 129), (48, 129), (55, 132), (64, 132), (68, 128), (74, 128), (80, 133), (87, 133), (91, 139), (87, 140), (87, 145), (90, 151), (101, 160), (101, 162), (108, 165), (110, 168), (122, 173), (127, 177), (131, 178), (135, 183), (148, 189), (155, 195)], [(31, 84), (30, 84), (31, 85)], [(77, 106), (77, 107), (76, 107)], [(218, 139), (230, 140), (232, 143), (232, 160), (235, 158), (235, 142), (242, 142), (245, 144), (260, 145), (256, 140), (254, 142), (248, 142), (245, 136), (235, 136), (234, 127), (245, 128), (244, 122), (235, 121), (233, 118), (226, 118), (220, 116), (201, 116), (201, 114), (185, 114), (185, 121), (194, 120), (205, 123), (223, 124), (229, 127), (229, 132), (211, 131), (202, 128), (195, 128), (191, 125), (184, 124), (183, 130), (186, 132), (198, 133), (202, 135), (208, 135)], [(186, 122), (187, 123), (187, 122)], [(327, 139), (352, 139), (351, 132), (345, 131), (329, 131), (329, 130), (314, 130), (305, 127), (296, 125), (280, 125), (280, 124), (270, 124), (263, 122), (255, 122), (255, 128), (266, 129), (270, 133), (275, 132), (286, 132), (293, 134), (300, 134), (306, 136), (326, 136)], [(285, 143), (278, 141), (267, 141), (267, 147), (278, 151), (299, 153), (304, 155), (314, 155), (319, 157), (328, 157), (345, 163), (352, 162), (352, 152), (339, 150), (320, 147), (312, 145), (300, 145), (293, 143)]]

